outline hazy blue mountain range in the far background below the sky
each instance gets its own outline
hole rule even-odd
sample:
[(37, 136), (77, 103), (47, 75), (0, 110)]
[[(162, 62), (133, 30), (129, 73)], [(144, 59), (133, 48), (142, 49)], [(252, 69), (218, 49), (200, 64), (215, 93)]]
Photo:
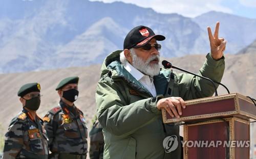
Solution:
[(256, 19), (221, 12), (188, 18), (122, 2), (2, 0), (0, 73), (100, 64), (111, 50), (122, 49), (125, 35), (136, 25), (150, 26), (166, 37), (160, 42), (162, 57), (205, 54), (206, 26), (214, 27), (216, 21), (230, 54), (256, 38)]

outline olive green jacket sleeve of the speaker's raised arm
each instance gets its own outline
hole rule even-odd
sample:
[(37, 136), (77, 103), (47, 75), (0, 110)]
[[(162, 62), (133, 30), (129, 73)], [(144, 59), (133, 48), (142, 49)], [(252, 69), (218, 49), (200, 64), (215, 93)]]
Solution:
[[(210, 54), (207, 54), (206, 61), (199, 70), (198, 74), (208, 77), (213, 81), (221, 82), (224, 69), (224, 57), (217, 61), (212, 59)], [(192, 74), (180, 73), (178, 74), (177, 81), (180, 97), (182, 97), (184, 100), (209, 97), (215, 92), (212, 83)], [(218, 88), (217, 84), (216, 88)]]

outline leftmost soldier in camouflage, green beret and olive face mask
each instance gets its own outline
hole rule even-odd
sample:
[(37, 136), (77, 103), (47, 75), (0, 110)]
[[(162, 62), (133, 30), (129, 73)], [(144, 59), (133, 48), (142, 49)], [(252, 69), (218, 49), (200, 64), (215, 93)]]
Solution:
[(30, 83), (18, 91), (23, 110), (12, 119), (6, 133), (3, 158), (48, 158), (46, 130), (36, 115), (40, 105), (40, 84)]

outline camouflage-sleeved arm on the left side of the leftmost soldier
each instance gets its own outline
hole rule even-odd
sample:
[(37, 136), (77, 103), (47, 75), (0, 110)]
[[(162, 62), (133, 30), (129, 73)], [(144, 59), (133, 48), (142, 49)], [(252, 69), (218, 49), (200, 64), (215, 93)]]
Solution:
[(23, 141), (24, 135), (24, 121), (16, 119), (13, 121), (6, 133), (5, 146), (3, 158), (16, 158), (22, 147), (24, 146)]

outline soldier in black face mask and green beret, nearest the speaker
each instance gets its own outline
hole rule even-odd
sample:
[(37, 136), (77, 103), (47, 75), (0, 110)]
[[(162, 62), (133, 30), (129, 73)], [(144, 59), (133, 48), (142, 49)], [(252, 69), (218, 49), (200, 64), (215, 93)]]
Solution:
[(86, 120), (74, 105), (79, 93), (78, 80), (77, 76), (67, 77), (58, 84), (59, 104), (43, 119), (52, 152), (49, 158), (86, 158)]

